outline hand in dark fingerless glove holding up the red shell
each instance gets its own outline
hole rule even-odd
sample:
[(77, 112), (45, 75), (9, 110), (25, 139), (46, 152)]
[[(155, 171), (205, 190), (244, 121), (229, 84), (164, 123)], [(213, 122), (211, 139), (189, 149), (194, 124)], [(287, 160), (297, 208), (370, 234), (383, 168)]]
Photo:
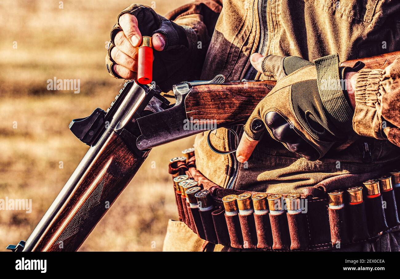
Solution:
[(118, 16), (110, 34), (107, 70), (115, 78), (136, 78), (142, 36), (151, 36), (156, 50), (153, 80), (163, 91), (168, 91), (174, 82), (171, 76), (188, 62), (189, 42), (182, 26), (156, 14), (150, 7), (133, 4)]

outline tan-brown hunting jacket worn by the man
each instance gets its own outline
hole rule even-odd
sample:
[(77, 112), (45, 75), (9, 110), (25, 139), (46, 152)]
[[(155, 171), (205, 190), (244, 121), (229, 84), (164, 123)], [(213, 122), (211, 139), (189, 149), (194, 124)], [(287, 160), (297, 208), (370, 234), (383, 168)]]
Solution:
[[(217, 74), (228, 80), (268, 79), (252, 69), (250, 55), (254, 52), (309, 61), (338, 53), (340, 61), (345, 61), (400, 50), (400, 1), (396, 0), (202, 0), (167, 17), (188, 31), (193, 51), (188, 63), (194, 68), (202, 65), (197, 77), (183, 75), (182, 81), (209, 80)], [(383, 167), (399, 167), (392, 162), (398, 162), (400, 149), (386, 140), (380, 115), (382, 96), (398, 86), (399, 75), (399, 60), (386, 71), (360, 74), (356, 98), (362, 105), (353, 119), (357, 134), (346, 148), (331, 150), (318, 161), (288, 151), (267, 135), (244, 166), (234, 155), (211, 151), (204, 133), (195, 140), (196, 166), (222, 187), (303, 195), (350, 187), (378, 175)], [(235, 147), (228, 138), (224, 128), (211, 136), (221, 150)], [(170, 246), (174, 243), (171, 230), (182, 226), (178, 222), (170, 226), (166, 250), (176, 249)], [(187, 245), (192, 239), (195, 244), (190, 249), (200, 249), (201, 241), (196, 242), (196, 235), (185, 229)]]

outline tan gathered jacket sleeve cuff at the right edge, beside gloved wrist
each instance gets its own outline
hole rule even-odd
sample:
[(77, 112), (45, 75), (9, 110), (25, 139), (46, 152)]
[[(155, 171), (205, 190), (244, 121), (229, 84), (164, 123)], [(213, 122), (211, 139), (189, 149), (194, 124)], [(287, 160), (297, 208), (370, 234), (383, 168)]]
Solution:
[(400, 146), (400, 57), (384, 70), (360, 70), (354, 96), (354, 131)]

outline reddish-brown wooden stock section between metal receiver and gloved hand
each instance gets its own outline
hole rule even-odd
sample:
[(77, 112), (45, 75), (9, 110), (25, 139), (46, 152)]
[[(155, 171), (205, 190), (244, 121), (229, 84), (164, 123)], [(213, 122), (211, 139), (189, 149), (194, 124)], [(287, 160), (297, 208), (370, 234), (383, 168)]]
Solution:
[(185, 99), (186, 116), (216, 121), (217, 127), (244, 123), (275, 84), (260, 80), (194, 86)]

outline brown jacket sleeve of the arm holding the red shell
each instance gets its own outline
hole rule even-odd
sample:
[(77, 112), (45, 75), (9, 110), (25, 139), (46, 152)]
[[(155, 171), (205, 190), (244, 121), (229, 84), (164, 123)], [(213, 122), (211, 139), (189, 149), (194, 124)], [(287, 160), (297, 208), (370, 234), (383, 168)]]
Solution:
[[(166, 14), (166, 18), (182, 26), (188, 36), (190, 57), (188, 67), (200, 78), (215, 24), (222, 10), (220, 0), (197, 0)], [(193, 69), (195, 68), (195, 69)]]

